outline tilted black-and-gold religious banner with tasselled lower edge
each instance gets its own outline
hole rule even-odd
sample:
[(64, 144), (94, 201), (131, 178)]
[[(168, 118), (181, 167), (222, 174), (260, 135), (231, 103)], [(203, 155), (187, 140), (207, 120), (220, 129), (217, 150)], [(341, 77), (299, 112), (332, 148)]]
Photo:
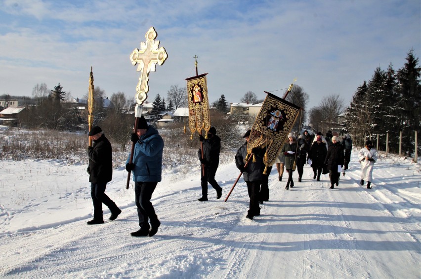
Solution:
[(254, 121), (247, 153), (254, 147), (266, 148), (263, 162), (272, 166), (282, 144), (291, 132), (300, 107), (268, 92)]

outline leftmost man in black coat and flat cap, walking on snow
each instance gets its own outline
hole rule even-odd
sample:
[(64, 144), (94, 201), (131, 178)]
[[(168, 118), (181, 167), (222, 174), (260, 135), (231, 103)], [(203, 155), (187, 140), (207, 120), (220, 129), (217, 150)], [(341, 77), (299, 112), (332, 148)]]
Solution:
[(93, 140), (93, 146), (88, 147), (89, 166), (87, 168), (89, 182), (91, 182), (90, 196), (93, 203), (93, 219), (86, 223), (95, 225), (104, 223), (102, 204), (110, 209), (110, 220), (115, 220), (122, 210), (105, 194), (105, 187), (113, 176), (111, 143), (105, 138), (99, 126), (93, 127), (88, 135)]

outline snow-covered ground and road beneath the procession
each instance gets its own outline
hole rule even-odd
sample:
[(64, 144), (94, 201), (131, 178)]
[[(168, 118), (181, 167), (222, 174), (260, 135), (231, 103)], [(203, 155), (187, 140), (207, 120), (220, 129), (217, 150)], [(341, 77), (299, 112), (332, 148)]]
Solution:
[(270, 201), (253, 220), (242, 178), (223, 201), (239, 174), (234, 159), (216, 173), (220, 200), (209, 186), (210, 201), (197, 201), (198, 166), (180, 170), (164, 170), (152, 197), (157, 235), (135, 238), (133, 185), (126, 190), (123, 167), (106, 190), (122, 214), (89, 226), (86, 165), (0, 161), (0, 277), (421, 278), (421, 171), (409, 159), (381, 156), (371, 190), (359, 185), (356, 152), (333, 190), (328, 175), (313, 180), (305, 165), (302, 182), (295, 172), (287, 191), (274, 169)]

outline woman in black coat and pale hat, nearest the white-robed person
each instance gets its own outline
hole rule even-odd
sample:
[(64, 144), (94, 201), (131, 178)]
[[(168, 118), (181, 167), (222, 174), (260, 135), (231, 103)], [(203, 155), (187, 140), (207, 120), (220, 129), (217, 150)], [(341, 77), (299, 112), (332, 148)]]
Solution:
[(328, 165), (329, 178), (331, 179), (331, 189), (334, 188), (334, 184), (339, 185), (338, 166), (343, 167), (343, 147), (339, 142), (337, 136), (332, 137), (332, 144), (329, 145), (328, 154), (326, 154), (325, 165)]

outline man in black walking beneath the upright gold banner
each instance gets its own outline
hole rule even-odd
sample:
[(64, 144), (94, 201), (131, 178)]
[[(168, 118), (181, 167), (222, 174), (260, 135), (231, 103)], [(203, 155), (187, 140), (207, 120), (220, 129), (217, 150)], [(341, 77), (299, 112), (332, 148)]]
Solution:
[[(208, 132), (208, 139), (205, 139), (202, 135), (199, 136), (199, 140), (203, 144), (203, 158), (202, 149), (199, 148), (198, 156), (200, 163), (204, 165), (204, 170), (201, 170), (201, 186), (202, 186), (202, 197), (198, 201), (208, 201), (208, 182), (211, 184), (213, 189), (216, 190), (216, 199), (220, 199), (222, 196), (222, 188), (215, 180), (216, 170), (219, 166), (219, 153), (221, 152), (221, 139), (216, 136), (215, 127), (211, 127)], [(205, 174), (204, 174), (205, 173)]]

